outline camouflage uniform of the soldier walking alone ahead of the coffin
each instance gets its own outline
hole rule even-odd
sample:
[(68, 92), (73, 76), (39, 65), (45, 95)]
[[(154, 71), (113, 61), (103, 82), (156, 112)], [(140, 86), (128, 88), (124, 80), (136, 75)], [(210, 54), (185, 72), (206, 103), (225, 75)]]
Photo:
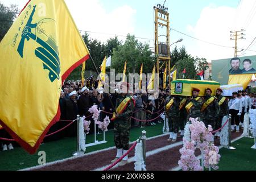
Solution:
[[(116, 100), (116, 108), (121, 104), (121, 102), (126, 98), (131, 97), (126, 95), (122, 97), (119, 95)], [(131, 116), (133, 115), (134, 103), (133, 100), (130, 100), (126, 109), (122, 114), (119, 114), (119, 117), (114, 121), (114, 142), (115, 147), (123, 148), (123, 150), (129, 150), (129, 138), (130, 138), (130, 129), (131, 129)]]

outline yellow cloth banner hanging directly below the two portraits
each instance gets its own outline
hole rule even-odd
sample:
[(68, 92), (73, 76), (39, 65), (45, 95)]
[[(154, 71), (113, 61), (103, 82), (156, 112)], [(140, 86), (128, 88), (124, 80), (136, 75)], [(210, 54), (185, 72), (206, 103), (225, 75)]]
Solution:
[(254, 74), (229, 75), (229, 85), (241, 84), (243, 85), (243, 89), (246, 89), (253, 75)]

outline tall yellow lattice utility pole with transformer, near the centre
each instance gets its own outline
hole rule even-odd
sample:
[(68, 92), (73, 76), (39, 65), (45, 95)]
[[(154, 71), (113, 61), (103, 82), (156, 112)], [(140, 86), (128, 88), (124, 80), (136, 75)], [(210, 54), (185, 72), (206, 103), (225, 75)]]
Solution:
[[(170, 55), (170, 19), (168, 7), (161, 6), (160, 4), (154, 6), (155, 11), (155, 55), (157, 57), (156, 71), (159, 75), (159, 61), (168, 62), (169, 71), (169, 86), (171, 88), (171, 55)], [(159, 35), (159, 27), (166, 28), (165, 35)], [(159, 36), (165, 36), (164, 42), (159, 42)], [(159, 81), (159, 80), (158, 80)]]

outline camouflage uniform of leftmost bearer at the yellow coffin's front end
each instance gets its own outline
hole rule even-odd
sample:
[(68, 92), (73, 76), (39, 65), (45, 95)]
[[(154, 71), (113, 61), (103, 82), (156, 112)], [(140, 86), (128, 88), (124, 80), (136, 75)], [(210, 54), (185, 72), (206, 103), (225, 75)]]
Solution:
[(171, 99), (174, 99), (174, 104), (172, 104), (170, 109), (167, 111), (167, 117), (169, 121), (170, 132), (173, 132), (176, 134), (179, 131), (180, 98), (176, 96), (169, 97), (166, 103), (168, 104), (168, 102), (170, 102)]

